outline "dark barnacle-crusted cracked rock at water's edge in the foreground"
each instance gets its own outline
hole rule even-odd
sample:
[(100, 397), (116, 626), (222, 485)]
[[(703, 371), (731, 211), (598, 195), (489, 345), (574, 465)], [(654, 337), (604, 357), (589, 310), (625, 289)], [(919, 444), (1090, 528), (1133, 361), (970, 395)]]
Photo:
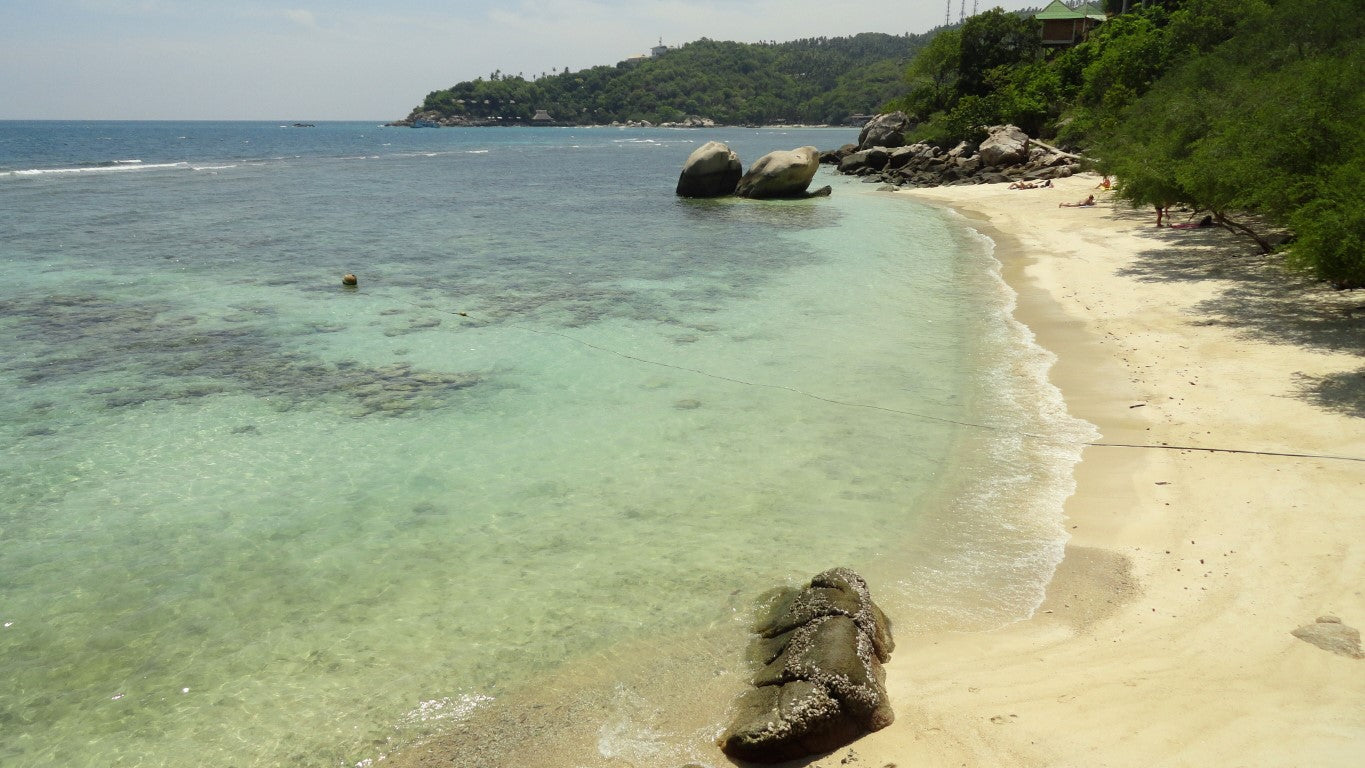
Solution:
[(782, 763), (891, 724), (882, 663), (895, 643), (861, 576), (837, 567), (779, 591), (755, 633), (749, 656), (760, 670), (721, 735), (728, 756)]

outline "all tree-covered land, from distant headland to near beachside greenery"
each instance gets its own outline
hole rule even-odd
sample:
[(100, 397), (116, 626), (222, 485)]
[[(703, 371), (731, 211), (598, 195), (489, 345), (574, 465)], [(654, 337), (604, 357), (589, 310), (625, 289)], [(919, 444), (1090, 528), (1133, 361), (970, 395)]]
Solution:
[[(1084, 153), (1136, 206), (1207, 211), (1265, 252), (1291, 240), (1294, 266), (1365, 288), (1355, 0), (1078, 5), (994, 8), (916, 35), (699, 40), (534, 79), (493, 72), (430, 93), (397, 124), (848, 124), (901, 110), (908, 142), (945, 149), (1014, 124)], [(1089, 19), (1074, 44), (1044, 35), (1066, 8)]]

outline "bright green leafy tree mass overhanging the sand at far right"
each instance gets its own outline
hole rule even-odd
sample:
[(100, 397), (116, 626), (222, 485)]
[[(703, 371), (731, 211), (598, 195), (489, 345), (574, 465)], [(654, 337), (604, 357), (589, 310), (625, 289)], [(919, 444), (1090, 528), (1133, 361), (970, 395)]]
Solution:
[(1267, 3), (1192, 49), (1099, 139), (1119, 195), (1209, 210), (1265, 251), (1253, 221), (1289, 228), (1290, 263), (1365, 286), (1365, 25), (1350, 5)]

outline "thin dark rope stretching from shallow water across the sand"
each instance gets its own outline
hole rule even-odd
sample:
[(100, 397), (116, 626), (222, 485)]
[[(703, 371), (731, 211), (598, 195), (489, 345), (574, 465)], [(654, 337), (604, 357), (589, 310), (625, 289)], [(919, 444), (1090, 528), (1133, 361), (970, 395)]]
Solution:
[[(401, 301), (404, 304), (410, 304), (412, 307), (416, 307), (416, 308), (425, 310), (425, 311), (442, 312), (442, 314), (446, 314), (446, 315), (455, 315), (455, 316), (464, 318), (464, 319), (476, 319), (476, 318), (471, 316), (470, 312), (459, 312), (459, 311), (455, 311), (455, 310), (442, 310), (440, 307), (423, 307), (422, 304), (418, 304), (416, 301), (410, 301), (407, 299), (397, 299), (397, 297), (390, 297), (390, 299), (394, 299), (396, 301)], [(706, 370), (702, 370), (702, 368), (691, 368), (688, 366), (678, 366), (676, 363), (663, 363), (661, 360), (650, 360), (648, 357), (640, 357), (637, 355), (631, 355), (628, 352), (621, 352), (620, 349), (612, 349), (610, 346), (602, 346), (601, 344), (594, 344), (591, 341), (584, 341), (584, 340), (581, 340), (581, 338), (579, 338), (576, 336), (569, 336), (569, 334), (566, 334), (564, 331), (558, 331), (558, 330), (545, 330), (545, 329), (538, 329), (538, 327), (532, 327), (532, 326), (528, 326), (528, 325), (524, 325), (524, 323), (517, 323), (517, 322), (508, 322), (508, 323), (502, 323), (502, 325), (505, 327), (516, 327), (516, 329), (520, 329), (520, 330), (524, 330), (524, 331), (528, 331), (528, 333), (535, 333), (535, 334), (539, 334), (539, 336), (557, 336), (560, 338), (565, 338), (568, 341), (572, 341), (572, 342), (575, 342), (575, 344), (577, 344), (580, 346), (587, 346), (588, 349), (597, 349), (598, 352), (605, 352), (607, 355), (614, 355), (614, 356), (621, 357), (624, 360), (632, 360), (635, 363), (643, 363), (646, 366), (655, 366), (655, 367), (659, 367), (659, 368), (670, 368), (670, 370), (674, 370), (674, 371), (685, 371), (685, 372), (689, 372), (689, 374), (696, 374), (699, 376), (706, 376), (708, 379), (717, 379), (717, 381), (736, 383), (736, 385), (741, 385), (741, 386), (752, 386), (752, 387), (759, 387), (759, 389), (774, 389), (774, 390), (779, 390), (779, 392), (789, 392), (792, 394), (799, 394), (801, 397), (816, 400), (819, 402), (827, 402), (830, 405), (838, 405), (838, 407), (842, 407), (842, 408), (863, 408), (863, 409), (867, 409), (867, 411), (880, 411), (883, 413), (894, 413), (897, 416), (909, 416), (912, 419), (923, 419), (925, 422), (936, 422), (939, 424), (953, 424), (953, 426), (957, 426), (957, 427), (968, 427), (968, 428), (973, 428), (973, 430), (984, 430), (984, 431), (991, 431), (991, 432), (1006, 432), (1006, 434), (1018, 435), (1018, 437), (1022, 437), (1022, 438), (1029, 438), (1029, 439), (1033, 439), (1033, 441), (1046, 442), (1046, 443), (1058, 445), (1058, 446), (1127, 447), (1127, 449), (1140, 449), (1140, 450), (1197, 450), (1197, 452), (1203, 452), (1203, 453), (1231, 453), (1231, 454), (1242, 454), (1242, 456), (1272, 456), (1272, 457), (1280, 457), (1280, 458), (1317, 458), (1317, 460), (1324, 460), (1324, 461), (1358, 461), (1358, 462), (1365, 462), (1365, 457), (1335, 456), (1335, 454), (1325, 454), (1325, 453), (1290, 453), (1290, 452), (1276, 452), (1276, 450), (1252, 450), (1252, 449), (1238, 449), (1238, 447), (1200, 447), (1200, 446), (1181, 446), (1181, 445), (1167, 445), (1167, 443), (1115, 443), (1115, 442), (1097, 442), (1097, 441), (1096, 442), (1059, 441), (1057, 438), (1050, 438), (1047, 435), (1039, 435), (1036, 432), (1029, 432), (1029, 431), (1024, 431), (1024, 430), (1014, 430), (1014, 428), (1010, 428), (1010, 427), (1001, 427), (1001, 426), (996, 426), (996, 424), (983, 424), (983, 423), (979, 423), (979, 422), (964, 422), (964, 420), (960, 420), (960, 419), (949, 419), (949, 417), (945, 417), (945, 416), (934, 416), (931, 413), (923, 413), (923, 412), (919, 412), (919, 411), (906, 411), (906, 409), (902, 409), (902, 408), (891, 408), (889, 405), (876, 405), (876, 404), (872, 404), (872, 402), (854, 402), (854, 401), (849, 401), (849, 400), (838, 400), (838, 398), (834, 398), (834, 397), (824, 397), (823, 394), (815, 394), (812, 392), (805, 392), (804, 389), (797, 389), (794, 386), (775, 385), (775, 383), (767, 383), (767, 382), (751, 382), (751, 381), (747, 381), (747, 379), (740, 379), (740, 378), (734, 378), (734, 376), (726, 376), (726, 375), (722, 375), (722, 374), (714, 374), (711, 371), (706, 371)]]

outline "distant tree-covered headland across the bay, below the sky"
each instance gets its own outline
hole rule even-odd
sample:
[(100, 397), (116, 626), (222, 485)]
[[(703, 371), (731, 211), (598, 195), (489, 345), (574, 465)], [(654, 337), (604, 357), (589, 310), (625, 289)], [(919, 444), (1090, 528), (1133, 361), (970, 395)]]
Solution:
[(556, 123), (842, 123), (905, 91), (901, 75), (932, 37), (865, 33), (794, 42), (699, 40), (661, 56), (534, 79), (493, 72), (427, 94), (414, 116)]

